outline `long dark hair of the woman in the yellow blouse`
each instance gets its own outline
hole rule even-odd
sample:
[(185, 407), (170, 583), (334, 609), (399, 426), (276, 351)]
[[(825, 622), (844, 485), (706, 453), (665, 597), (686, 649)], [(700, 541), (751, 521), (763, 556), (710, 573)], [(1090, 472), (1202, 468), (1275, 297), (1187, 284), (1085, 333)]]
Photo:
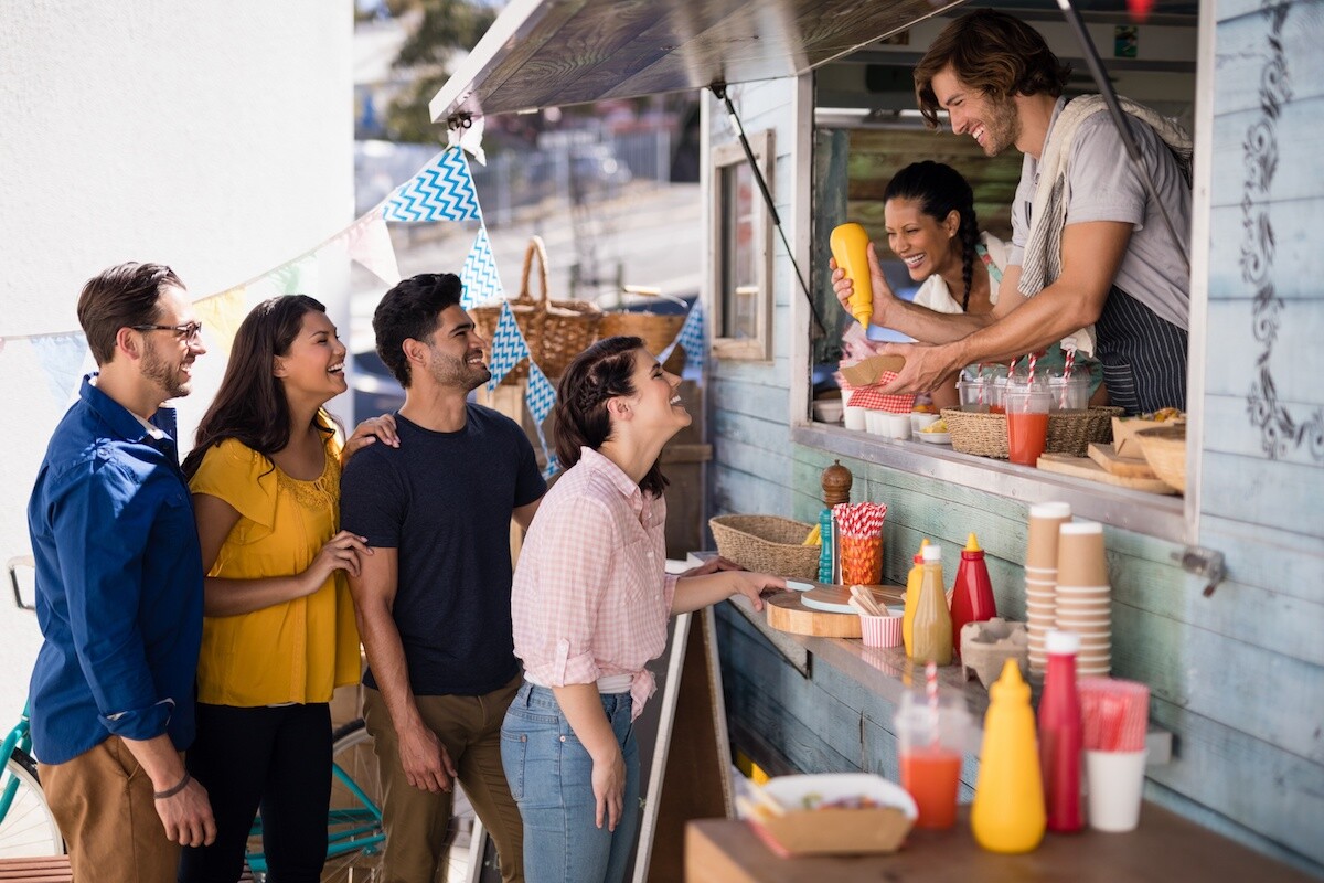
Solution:
[[(184, 458), (184, 475), (192, 478), (207, 451), (226, 438), (236, 438), (267, 459), (290, 443), (290, 401), (273, 375), (277, 356), (290, 355), (290, 344), (303, 328), (307, 312), (327, 308), (306, 294), (287, 294), (257, 304), (245, 316), (221, 388), (197, 425), (197, 443)], [(318, 410), (316, 428), (331, 436), (335, 428)]]

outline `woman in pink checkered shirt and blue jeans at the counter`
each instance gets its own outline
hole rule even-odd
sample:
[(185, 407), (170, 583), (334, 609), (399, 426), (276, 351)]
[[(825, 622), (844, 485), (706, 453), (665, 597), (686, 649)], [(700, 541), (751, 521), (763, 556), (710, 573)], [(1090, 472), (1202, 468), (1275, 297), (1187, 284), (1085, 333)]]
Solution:
[(502, 764), (524, 818), (528, 883), (614, 883), (638, 830), (632, 723), (654, 690), (645, 667), (667, 617), (781, 577), (724, 569), (667, 576), (662, 446), (690, 425), (638, 338), (608, 338), (561, 379), (556, 455), (568, 471), (543, 498), (511, 596), (526, 683), (502, 727)]

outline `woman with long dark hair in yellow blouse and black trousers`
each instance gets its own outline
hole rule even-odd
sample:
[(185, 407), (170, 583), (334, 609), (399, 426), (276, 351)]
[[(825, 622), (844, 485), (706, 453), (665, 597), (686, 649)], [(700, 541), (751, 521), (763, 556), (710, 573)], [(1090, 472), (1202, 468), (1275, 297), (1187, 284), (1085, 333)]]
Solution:
[(327, 850), (331, 691), (359, 679), (359, 634), (340, 571), (372, 551), (339, 531), (340, 459), (399, 443), (389, 417), (342, 451), (323, 405), (347, 389), (326, 307), (271, 298), (244, 319), (216, 400), (184, 461), (207, 571), (197, 739), (216, 842), (189, 847), (185, 883), (233, 883), (258, 808), (273, 880), (315, 882)]

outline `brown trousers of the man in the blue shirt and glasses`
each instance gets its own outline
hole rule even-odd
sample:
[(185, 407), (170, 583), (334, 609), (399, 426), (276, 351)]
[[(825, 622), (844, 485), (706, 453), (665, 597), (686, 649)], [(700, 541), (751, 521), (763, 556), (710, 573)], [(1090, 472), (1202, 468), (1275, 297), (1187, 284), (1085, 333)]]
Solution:
[(152, 780), (119, 736), (62, 764), (37, 764), (37, 774), (77, 883), (173, 883), (179, 843), (166, 839)]

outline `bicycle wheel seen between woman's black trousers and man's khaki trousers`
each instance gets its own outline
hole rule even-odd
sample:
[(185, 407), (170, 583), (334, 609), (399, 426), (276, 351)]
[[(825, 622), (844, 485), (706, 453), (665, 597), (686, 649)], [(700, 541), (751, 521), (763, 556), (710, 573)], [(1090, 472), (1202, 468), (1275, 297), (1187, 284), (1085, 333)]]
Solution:
[(332, 735), (331, 810), (323, 883), (375, 883), (381, 879), (385, 834), (381, 827), (381, 780), (372, 736), (363, 720)]

